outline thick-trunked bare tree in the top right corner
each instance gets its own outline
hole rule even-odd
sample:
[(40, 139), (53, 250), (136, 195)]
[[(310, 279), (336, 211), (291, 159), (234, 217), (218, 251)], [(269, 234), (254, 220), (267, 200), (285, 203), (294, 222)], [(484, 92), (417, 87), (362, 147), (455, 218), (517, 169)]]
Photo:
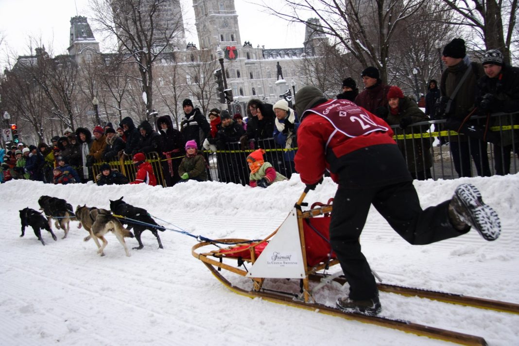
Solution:
[(486, 49), (501, 50), (504, 58), (510, 62), (518, 0), (442, 1), (448, 10), (458, 13), (456, 18), (448, 21), (449, 24), (469, 27), (485, 43)]

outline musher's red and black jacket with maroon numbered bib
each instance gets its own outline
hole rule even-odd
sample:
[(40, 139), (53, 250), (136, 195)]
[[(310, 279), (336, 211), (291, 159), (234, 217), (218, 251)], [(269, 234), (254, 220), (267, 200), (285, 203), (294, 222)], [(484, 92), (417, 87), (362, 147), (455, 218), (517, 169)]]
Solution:
[[(383, 119), (348, 100), (329, 100), (303, 116), (294, 159), (303, 183), (317, 183), (325, 170), (334, 182), (344, 175), (346, 185), (353, 187), (411, 180), (393, 131)], [(325, 116), (337, 119), (335, 126)]]

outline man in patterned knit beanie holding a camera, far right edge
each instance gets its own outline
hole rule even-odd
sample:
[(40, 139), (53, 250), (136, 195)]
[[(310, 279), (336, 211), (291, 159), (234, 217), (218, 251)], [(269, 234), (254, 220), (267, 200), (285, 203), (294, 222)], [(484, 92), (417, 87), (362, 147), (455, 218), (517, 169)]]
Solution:
[(503, 54), (491, 49), (481, 59), (485, 75), (477, 82), (479, 91), (478, 108), (483, 114), (514, 113), (491, 117), (489, 123), (494, 127), (505, 127), (493, 131), (500, 135), (494, 145), (496, 174), (510, 173), (510, 153), (519, 156), (519, 131), (506, 127), (519, 124), (519, 67), (504, 63)]

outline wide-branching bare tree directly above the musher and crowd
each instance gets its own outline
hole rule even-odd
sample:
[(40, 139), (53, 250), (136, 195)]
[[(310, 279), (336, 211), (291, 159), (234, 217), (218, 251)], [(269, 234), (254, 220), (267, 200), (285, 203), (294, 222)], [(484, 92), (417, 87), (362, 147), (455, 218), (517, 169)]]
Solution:
[[(391, 40), (403, 22), (425, 2), (414, 0), (283, 0), (282, 8), (262, 5), (267, 12), (310, 25), (342, 45), (361, 66), (372, 65), (387, 80)], [(280, 5), (280, 6), (281, 6)], [(307, 23), (312, 13), (320, 24)]]

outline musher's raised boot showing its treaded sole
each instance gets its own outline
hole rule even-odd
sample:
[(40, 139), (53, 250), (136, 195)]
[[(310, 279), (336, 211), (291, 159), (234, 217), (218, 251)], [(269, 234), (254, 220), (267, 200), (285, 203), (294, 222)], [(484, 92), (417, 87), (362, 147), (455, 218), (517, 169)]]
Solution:
[(456, 229), (471, 226), (488, 241), (496, 240), (501, 233), (499, 216), (483, 202), (481, 192), (472, 184), (456, 188), (449, 204), (449, 218)]

